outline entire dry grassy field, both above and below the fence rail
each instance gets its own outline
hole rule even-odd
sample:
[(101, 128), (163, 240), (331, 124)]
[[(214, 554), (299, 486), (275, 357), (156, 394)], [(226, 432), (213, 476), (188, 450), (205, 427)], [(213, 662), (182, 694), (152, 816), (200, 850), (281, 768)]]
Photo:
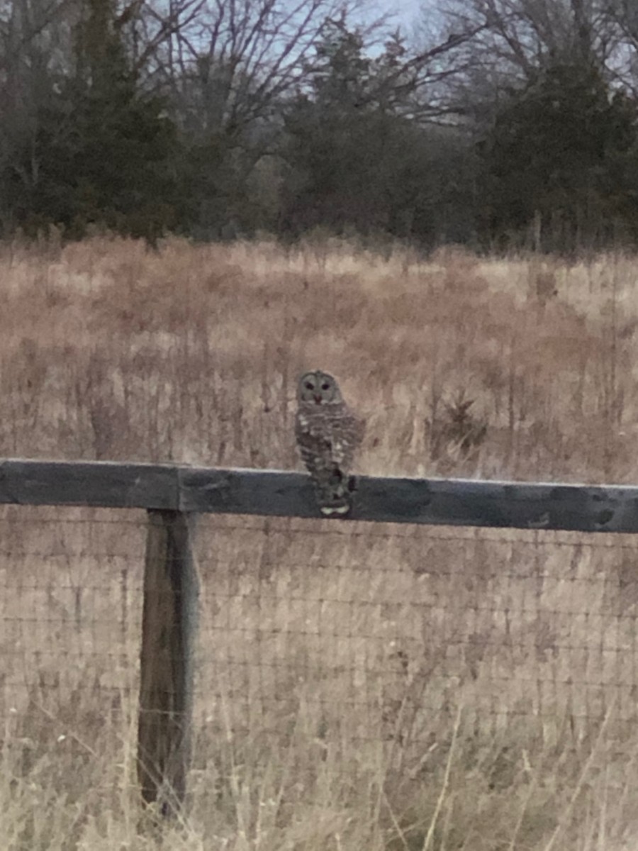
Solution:
[[(93, 239), (0, 249), (0, 455), (638, 483), (635, 260)], [(633, 851), (630, 536), (202, 519), (179, 824), (134, 784), (143, 512), (0, 511), (0, 845)]]

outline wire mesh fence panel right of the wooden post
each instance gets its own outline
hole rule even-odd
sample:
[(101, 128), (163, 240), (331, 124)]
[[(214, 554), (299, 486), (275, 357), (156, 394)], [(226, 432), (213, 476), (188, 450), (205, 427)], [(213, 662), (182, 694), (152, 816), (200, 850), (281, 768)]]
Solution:
[(631, 537), (215, 518), (200, 529), (202, 724), (417, 757), (449, 726), (638, 720)]

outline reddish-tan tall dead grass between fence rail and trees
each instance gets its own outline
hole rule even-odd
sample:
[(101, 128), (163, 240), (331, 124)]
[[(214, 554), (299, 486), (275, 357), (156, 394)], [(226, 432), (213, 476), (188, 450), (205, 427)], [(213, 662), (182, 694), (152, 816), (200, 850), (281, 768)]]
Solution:
[[(362, 471), (635, 482), (634, 266), (5, 247), (1, 451), (290, 467), (294, 377), (322, 363), (367, 417)], [(470, 457), (438, 439), (459, 397)]]

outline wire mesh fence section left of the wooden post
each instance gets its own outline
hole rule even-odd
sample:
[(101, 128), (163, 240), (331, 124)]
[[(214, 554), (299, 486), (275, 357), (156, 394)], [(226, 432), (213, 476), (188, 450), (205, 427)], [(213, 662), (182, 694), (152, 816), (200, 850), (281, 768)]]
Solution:
[(144, 511), (0, 511), (0, 712), (22, 768), (121, 750), (137, 701), (144, 542)]

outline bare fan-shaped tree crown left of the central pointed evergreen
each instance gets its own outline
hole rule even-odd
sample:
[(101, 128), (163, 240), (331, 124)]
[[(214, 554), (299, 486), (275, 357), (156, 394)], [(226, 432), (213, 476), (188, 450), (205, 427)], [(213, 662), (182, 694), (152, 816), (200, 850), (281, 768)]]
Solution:
[(185, 127), (236, 137), (302, 83), (324, 21), (360, 0), (150, 0), (134, 22), (136, 62)]

